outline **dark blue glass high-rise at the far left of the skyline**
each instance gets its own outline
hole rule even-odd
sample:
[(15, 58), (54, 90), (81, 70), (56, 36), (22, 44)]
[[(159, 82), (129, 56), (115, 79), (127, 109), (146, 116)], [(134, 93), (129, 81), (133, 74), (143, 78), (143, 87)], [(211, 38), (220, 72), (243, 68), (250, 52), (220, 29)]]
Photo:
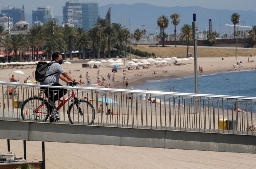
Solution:
[(8, 6), (6, 8), (3, 8), (1, 10), (1, 13), (4, 13), (7, 17), (11, 18), (11, 22), (13, 24), (16, 24), (19, 21), (25, 21), (25, 8), (12, 8), (11, 6)]

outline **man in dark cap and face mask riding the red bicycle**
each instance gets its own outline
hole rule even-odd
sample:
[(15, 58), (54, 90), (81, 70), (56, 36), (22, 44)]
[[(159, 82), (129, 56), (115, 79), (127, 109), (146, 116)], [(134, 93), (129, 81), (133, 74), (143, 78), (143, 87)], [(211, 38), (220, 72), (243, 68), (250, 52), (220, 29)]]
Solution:
[[(63, 88), (54, 88), (54, 86), (62, 86), (59, 83), (59, 79), (66, 83), (75, 82), (80, 85), (79, 81), (76, 81), (73, 79), (61, 66), (63, 60), (61, 53), (55, 52), (52, 53), (52, 61), (51, 65), (48, 67), (45, 76), (50, 75), (46, 77), (46, 79), (43, 82), (40, 82), (41, 85), (49, 85), (53, 86), (51, 88), (41, 88), (44, 91), (44, 94), (48, 98), (49, 96), (49, 104), (56, 109), (55, 102), (61, 99), (66, 93), (68, 92), (67, 89)], [(57, 73), (56, 73), (57, 72)], [(55, 73), (55, 74), (53, 74)], [(56, 95), (54, 95), (56, 93)]]

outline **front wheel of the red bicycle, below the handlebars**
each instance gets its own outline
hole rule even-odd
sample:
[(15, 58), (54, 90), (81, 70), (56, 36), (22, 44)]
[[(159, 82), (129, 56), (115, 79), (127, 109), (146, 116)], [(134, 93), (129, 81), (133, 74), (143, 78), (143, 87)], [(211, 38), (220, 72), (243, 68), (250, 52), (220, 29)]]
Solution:
[(68, 119), (71, 124), (91, 125), (95, 119), (95, 110), (87, 101), (75, 101), (69, 105)]

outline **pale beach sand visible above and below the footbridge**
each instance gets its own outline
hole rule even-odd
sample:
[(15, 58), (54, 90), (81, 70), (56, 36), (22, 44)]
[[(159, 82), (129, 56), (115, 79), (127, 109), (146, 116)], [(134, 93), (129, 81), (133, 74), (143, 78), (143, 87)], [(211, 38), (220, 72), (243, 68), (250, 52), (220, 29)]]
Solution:
[[(238, 57), (242, 60), (243, 66), (236, 67), (237, 70), (254, 69), (255, 62), (247, 62), (247, 57)], [(234, 71), (233, 65), (238, 61), (235, 57), (228, 57), (224, 60), (221, 58), (198, 58), (198, 66), (203, 67), (204, 73)], [(250, 57), (255, 60), (256, 57)], [(128, 61), (126, 61), (128, 62)], [(169, 61), (173, 62), (173, 60)], [(103, 64), (106, 65), (106, 64)], [(25, 75), (20, 74), (19, 82), (29, 75), (32, 76), (32, 66), (20, 69)], [(82, 63), (65, 65), (64, 69), (68, 72), (71, 70), (71, 76), (79, 80), (82, 74), (82, 81), (86, 81), (85, 73), (88, 72), (92, 79), (92, 84), (96, 84), (97, 71), (100, 70), (100, 76), (103, 75), (107, 80), (108, 72), (112, 75), (110, 67), (100, 67), (100, 69), (82, 68)], [(80, 72), (74, 70), (80, 69)], [(9, 81), (7, 73), (12, 73), (13, 69), (2, 69), (0, 81)], [(127, 69), (126, 69), (127, 70)], [(167, 70), (167, 73), (162, 71)], [(153, 72), (156, 71), (156, 74)], [(151, 66), (149, 69), (140, 69), (125, 72), (129, 81), (129, 86), (143, 83), (148, 79), (171, 78), (184, 75), (193, 75), (194, 64), (192, 61), (186, 61), (181, 66), (165, 66), (158, 68)], [(141, 77), (134, 74), (143, 74)], [(115, 88), (125, 88), (123, 86), (123, 72), (115, 73), (118, 82), (110, 82)], [(18, 79), (18, 74), (14, 74)], [(111, 78), (112, 80), (112, 78)], [(31, 79), (34, 81), (34, 79)], [(105, 82), (105, 83), (106, 83)], [(61, 84), (65, 85), (64, 82)], [(81, 86), (87, 86), (82, 84)], [(98, 87), (98, 85), (89, 85), (89, 87)], [(145, 86), (145, 90), (146, 90)], [(182, 91), (179, 91), (182, 92)], [(0, 153), (6, 153), (7, 141), (0, 140)], [(11, 151), (17, 154), (17, 157), (23, 156), (23, 142), (11, 140)], [(192, 151), (192, 150), (175, 150), (162, 148), (144, 148), (129, 146), (111, 146), (111, 145), (92, 145), (92, 144), (70, 144), (70, 143), (52, 143), (46, 142), (46, 168), (254, 168), (255, 154), (213, 152), (213, 151)], [(40, 161), (42, 159), (41, 142), (27, 142), (28, 161)], [(239, 161), (237, 160), (239, 158)]]

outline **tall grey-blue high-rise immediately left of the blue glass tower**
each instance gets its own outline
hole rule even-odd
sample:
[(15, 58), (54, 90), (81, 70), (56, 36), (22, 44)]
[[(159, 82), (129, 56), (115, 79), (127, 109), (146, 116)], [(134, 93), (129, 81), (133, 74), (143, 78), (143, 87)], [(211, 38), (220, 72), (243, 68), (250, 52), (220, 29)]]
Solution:
[(71, 24), (74, 27), (83, 27), (82, 3), (68, 1), (63, 6), (63, 24)]

